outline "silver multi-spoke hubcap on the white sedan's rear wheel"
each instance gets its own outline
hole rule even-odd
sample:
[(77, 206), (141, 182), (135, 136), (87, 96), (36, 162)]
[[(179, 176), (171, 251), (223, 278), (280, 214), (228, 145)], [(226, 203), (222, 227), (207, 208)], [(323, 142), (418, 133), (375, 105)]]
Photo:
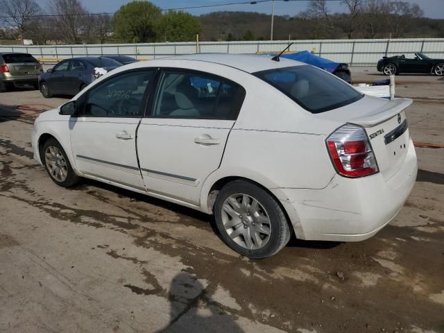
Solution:
[(248, 250), (262, 248), (270, 239), (270, 219), (253, 196), (229, 196), (222, 205), (222, 223), (228, 236)]

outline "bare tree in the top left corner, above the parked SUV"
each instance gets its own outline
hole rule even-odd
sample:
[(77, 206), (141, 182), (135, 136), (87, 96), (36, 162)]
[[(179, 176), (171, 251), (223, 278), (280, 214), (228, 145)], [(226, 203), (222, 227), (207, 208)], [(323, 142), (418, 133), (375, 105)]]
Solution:
[(33, 0), (0, 0), (0, 12), (5, 16), (3, 22), (17, 27), (20, 41), (37, 22), (37, 15), (42, 12)]

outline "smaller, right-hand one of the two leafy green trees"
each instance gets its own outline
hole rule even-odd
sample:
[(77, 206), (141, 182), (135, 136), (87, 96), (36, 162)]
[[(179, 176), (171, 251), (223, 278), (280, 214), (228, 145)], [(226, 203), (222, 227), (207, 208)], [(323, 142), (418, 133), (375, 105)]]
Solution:
[(189, 42), (196, 39), (201, 26), (197, 17), (170, 10), (160, 17), (156, 31), (160, 42)]

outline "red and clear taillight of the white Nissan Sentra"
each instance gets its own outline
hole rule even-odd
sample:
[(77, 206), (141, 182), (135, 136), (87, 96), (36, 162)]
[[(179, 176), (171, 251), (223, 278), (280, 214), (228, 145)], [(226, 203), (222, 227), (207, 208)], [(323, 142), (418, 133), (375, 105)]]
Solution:
[(336, 171), (345, 177), (377, 173), (377, 162), (364, 128), (344, 125), (327, 138), (327, 148)]

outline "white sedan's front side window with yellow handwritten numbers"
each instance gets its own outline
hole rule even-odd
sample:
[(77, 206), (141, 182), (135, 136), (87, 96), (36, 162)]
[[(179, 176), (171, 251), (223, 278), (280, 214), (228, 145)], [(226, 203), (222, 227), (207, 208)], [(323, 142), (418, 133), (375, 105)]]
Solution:
[(144, 94), (154, 71), (133, 71), (92, 88), (83, 115), (89, 117), (141, 117)]

